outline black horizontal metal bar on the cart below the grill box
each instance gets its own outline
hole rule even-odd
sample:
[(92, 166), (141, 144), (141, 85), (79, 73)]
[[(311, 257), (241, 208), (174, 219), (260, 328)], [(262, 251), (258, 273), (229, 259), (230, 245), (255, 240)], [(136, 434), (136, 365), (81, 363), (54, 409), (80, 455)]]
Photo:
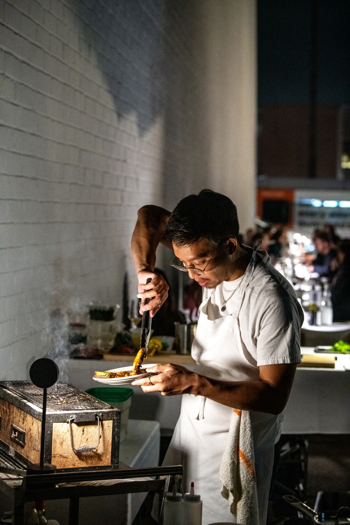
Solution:
[(125, 470), (85, 470), (78, 472), (55, 472), (54, 474), (30, 474), (26, 476), (28, 488), (43, 486), (46, 483), (75, 483), (80, 481), (100, 481), (104, 479), (132, 479), (153, 476), (183, 475), (182, 465), (171, 467), (131, 468)]

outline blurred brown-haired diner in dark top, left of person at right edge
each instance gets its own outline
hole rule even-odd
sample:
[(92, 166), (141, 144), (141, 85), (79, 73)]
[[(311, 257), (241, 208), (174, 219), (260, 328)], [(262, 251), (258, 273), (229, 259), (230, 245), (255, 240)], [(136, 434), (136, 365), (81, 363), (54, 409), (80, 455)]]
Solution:
[(320, 277), (332, 278), (334, 275), (334, 261), (336, 260), (336, 250), (332, 248), (330, 236), (324, 230), (316, 229), (312, 238), (316, 258), (312, 265), (307, 267), (310, 274), (314, 272)]

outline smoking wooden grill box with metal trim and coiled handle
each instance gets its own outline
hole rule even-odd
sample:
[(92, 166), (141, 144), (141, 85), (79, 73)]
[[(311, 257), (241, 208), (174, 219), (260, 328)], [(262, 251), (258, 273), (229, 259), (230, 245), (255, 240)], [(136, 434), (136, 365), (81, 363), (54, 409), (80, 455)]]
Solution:
[[(42, 399), (43, 391), (30, 381), (0, 382), (0, 448), (25, 465), (39, 463)], [(77, 453), (71, 435), (75, 449), (96, 446), (99, 435), (100, 443), (88, 454)], [(119, 436), (118, 408), (72, 385), (48, 388), (45, 463), (57, 469), (118, 468)]]

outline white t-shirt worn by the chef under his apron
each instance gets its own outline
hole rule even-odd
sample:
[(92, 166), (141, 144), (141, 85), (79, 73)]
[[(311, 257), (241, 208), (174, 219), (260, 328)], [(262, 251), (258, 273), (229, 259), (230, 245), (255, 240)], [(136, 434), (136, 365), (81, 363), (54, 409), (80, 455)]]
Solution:
[[(270, 264), (270, 258), (257, 253), (257, 264), (244, 290), (243, 299), (240, 288), (224, 305), (221, 286), (204, 289), (203, 302), (207, 298), (206, 312), (213, 321), (232, 315), (241, 301), (238, 313), (242, 345), (251, 354), (257, 366), (280, 363), (300, 363), (300, 328), (303, 323), (303, 310), (296, 299), (290, 283)], [(224, 281), (223, 291), (227, 300), (237, 288), (241, 278)], [(243, 283), (242, 283), (243, 286)]]

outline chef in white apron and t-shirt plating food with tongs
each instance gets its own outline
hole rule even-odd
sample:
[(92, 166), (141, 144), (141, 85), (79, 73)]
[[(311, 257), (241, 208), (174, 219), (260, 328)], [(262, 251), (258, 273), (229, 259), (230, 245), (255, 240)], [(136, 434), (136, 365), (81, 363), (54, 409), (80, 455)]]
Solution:
[(164, 464), (183, 465), (185, 491), (195, 482), (204, 525), (236, 522), (219, 480), (232, 408), (250, 413), (259, 522), (266, 523), (274, 446), (301, 361), (303, 312), (294, 290), (266, 252), (240, 244), (238, 233), (234, 203), (203, 190), (182, 199), (172, 213), (142, 207), (132, 236), (137, 297), (150, 299), (141, 312), (150, 310), (153, 317), (167, 297), (166, 282), (154, 272), (159, 243), (174, 251), (171, 265), (203, 288), (192, 346), (195, 370), (157, 365), (151, 369), (156, 375), (134, 384), (144, 392), (183, 394)]

